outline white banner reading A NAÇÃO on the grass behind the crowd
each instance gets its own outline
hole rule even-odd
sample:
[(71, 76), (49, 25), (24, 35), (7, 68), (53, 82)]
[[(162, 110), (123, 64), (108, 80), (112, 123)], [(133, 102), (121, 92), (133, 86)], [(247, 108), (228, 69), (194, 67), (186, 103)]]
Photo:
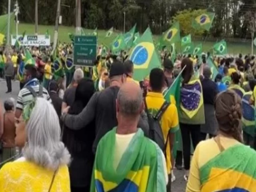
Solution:
[[(49, 46), (50, 35), (25, 35), (22, 40), (22, 35), (18, 35), (20, 38), (21, 46)], [(12, 46), (15, 45), (16, 35), (12, 35)]]

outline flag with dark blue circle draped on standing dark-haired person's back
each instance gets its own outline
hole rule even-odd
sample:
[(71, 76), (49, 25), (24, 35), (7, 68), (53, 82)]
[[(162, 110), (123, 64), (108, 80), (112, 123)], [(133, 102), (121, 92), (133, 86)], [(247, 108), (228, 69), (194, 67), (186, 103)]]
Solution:
[(194, 76), (180, 91), (179, 120), (186, 124), (205, 124), (202, 84)]

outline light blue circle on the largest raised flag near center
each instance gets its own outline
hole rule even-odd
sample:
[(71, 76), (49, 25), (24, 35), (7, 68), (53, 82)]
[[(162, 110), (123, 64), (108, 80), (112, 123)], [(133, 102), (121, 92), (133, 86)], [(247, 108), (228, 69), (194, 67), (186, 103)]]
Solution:
[(148, 60), (148, 50), (144, 46), (137, 46), (132, 53), (131, 60), (136, 65), (143, 65)]

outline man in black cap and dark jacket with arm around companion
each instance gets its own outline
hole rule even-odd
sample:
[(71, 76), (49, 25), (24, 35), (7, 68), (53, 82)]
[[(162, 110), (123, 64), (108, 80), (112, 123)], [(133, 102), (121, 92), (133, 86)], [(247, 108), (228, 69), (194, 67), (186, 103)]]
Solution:
[[(67, 114), (68, 108), (62, 110), (64, 124), (73, 130), (79, 130), (95, 120), (96, 138), (92, 147), (94, 154), (102, 136), (117, 126), (116, 98), (120, 86), (126, 82), (124, 64), (122, 62), (114, 61), (110, 68), (109, 78), (110, 87), (101, 92), (96, 92), (80, 114)], [(148, 119), (145, 112), (141, 114), (138, 127), (142, 128), (145, 135), (148, 135)]]

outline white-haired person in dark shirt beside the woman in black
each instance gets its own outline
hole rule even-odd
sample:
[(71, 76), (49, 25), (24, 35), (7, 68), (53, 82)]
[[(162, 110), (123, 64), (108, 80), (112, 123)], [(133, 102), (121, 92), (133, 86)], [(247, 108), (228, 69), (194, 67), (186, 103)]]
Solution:
[(65, 91), (63, 101), (62, 101), (62, 110), (67, 106), (71, 106), (75, 100), (76, 87), (78, 82), (84, 78), (84, 72), (81, 68), (77, 68), (74, 72), (73, 82), (70, 84), (70, 87)]

